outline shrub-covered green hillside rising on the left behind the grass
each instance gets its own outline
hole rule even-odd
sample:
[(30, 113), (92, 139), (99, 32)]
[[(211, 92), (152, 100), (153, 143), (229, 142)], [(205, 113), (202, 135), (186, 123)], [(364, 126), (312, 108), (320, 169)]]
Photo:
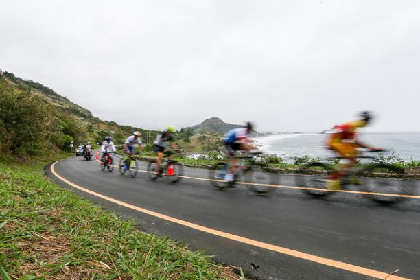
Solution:
[(154, 139), (157, 131), (102, 121), (47, 86), (0, 71), (0, 152), (45, 154), (75, 144), (102, 143), (106, 135), (122, 143), (140, 130)]

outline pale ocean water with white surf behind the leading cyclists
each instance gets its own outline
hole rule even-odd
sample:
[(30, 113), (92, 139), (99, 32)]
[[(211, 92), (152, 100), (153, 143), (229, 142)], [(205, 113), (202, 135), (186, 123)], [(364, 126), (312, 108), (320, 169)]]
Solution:
[[(329, 135), (318, 133), (290, 133), (257, 137), (255, 140), (260, 149), (268, 154), (277, 154), (286, 162), (293, 161), (294, 156), (308, 155), (325, 158), (335, 156), (323, 148)], [(371, 132), (360, 134), (360, 141), (375, 147), (395, 152), (404, 161), (420, 160), (420, 132)]]

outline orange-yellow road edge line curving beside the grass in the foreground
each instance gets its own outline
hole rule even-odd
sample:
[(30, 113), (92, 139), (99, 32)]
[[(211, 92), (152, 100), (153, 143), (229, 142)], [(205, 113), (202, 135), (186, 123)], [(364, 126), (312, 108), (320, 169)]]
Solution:
[(141, 212), (141, 213), (145, 213), (147, 215), (152, 215), (156, 218), (167, 220), (169, 222), (174, 222), (175, 224), (180, 224), (180, 225), (183, 225), (183, 226), (187, 226), (187, 227), (189, 227), (191, 229), (195, 229), (197, 231), (202, 231), (202, 232), (209, 233), (209, 234), (212, 234), (212, 235), (216, 235), (216, 236), (219, 236), (219, 237), (224, 237), (226, 239), (233, 240), (233, 241), (236, 241), (236, 242), (241, 242), (241, 243), (248, 244), (248, 245), (251, 245), (251, 246), (264, 248), (266, 250), (272, 250), (274, 252), (281, 253), (281, 254), (284, 254), (284, 255), (289, 255), (289, 256), (292, 256), (292, 257), (297, 257), (299, 259), (305, 259), (307, 261), (313, 261), (313, 262), (316, 262), (318, 264), (323, 264), (325, 266), (331, 266), (333, 268), (339, 268), (341, 270), (347, 270), (349, 272), (354, 272), (354, 273), (358, 273), (360, 275), (366, 275), (366, 276), (369, 276), (369, 277), (375, 277), (377, 279), (408, 280), (408, 278), (399, 277), (399, 276), (396, 276), (396, 275), (390, 275), (389, 273), (386, 273), (386, 272), (381, 272), (381, 271), (373, 270), (373, 269), (370, 269), (370, 268), (364, 268), (362, 266), (355, 266), (353, 264), (347, 264), (347, 263), (342, 262), (342, 261), (336, 261), (334, 259), (327, 259), (325, 257), (318, 257), (316, 255), (303, 253), (303, 252), (300, 252), (298, 250), (292, 250), (292, 249), (284, 248), (284, 247), (281, 247), (281, 246), (276, 246), (276, 245), (273, 245), (273, 244), (260, 242), (258, 240), (252, 240), (250, 238), (242, 237), (240, 235), (234, 235), (234, 234), (231, 234), (231, 233), (226, 233), (224, 231), (218, 231), (217, 229), (211, 229), (211, 228), (208, 228), (206, 226), (200, 226), (199, 224), (194, 224), (192, 222), (187, 222), (185, 220), (180, 220), (178, 218), (173, 218), (171, 216), (164, 215), (164, 214), (161, 214), (161, 213), (157, 213), (157, 212), (154, 212), (154, 211), (150, 211), (148, 209), (137, 207), (135, 205), (130, 205), (130, 204), (128, 204), (126, 202), (123, 202), (121, 200), (116, 200), (115, 198), (110, 198), (109, 196), (104, 196), (103, 194), (99, 194), (95, 191), (91, 191), (90, 189), (86, 189), (84, 187), (81, 187), (80, 185), (76, 185), (75, 183), (72, 183), (71, 181), (67, 180), (66, 178), (63, 178), (62, 176), (60, 176), (56, 172), (56, 170), (54, 168), (56, 163), (58, 163), (58, 162), (60, 162), (60, 161), (56, 161), (55, 163), (53, 163), (51, 165), (51, 173), (54, 174), (54, 176), (56, 176), (58, 179), (67, 183), (67, 185), (71, 185), (71, 187), (74, 187), (75, 189), (79, 189), (80, 191), (84, 191), (87, 194), (91, 194), (92, 196), (96, 196), (98, 198), (102, 198), (102, 199), (107, 200), (109, 202), (113, 202), (117, 205), (127, 207), (129, 209), (132, 209), (132, 210), (135, 210), (135, 211), (138, 211), (138, 212)]

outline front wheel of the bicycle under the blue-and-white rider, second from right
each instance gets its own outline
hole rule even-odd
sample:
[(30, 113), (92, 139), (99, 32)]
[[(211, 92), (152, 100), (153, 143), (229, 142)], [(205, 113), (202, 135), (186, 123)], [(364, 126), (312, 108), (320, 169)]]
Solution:
[(268, 172), (261, 163), (253, 163), (244, 170), (244, 183), (254, 194), (270, 194), (276, 189), (278, 178), (279, 174)]

